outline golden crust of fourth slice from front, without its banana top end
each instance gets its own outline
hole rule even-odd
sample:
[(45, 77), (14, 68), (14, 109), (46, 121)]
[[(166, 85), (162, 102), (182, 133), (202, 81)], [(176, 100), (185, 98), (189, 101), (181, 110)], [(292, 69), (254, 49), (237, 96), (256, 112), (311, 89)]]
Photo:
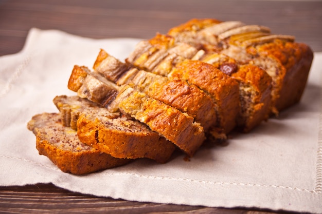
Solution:
[(135, 89), (146, 93), (151, 98), (192, 116), (195, 122), (203, 126), (205, 132), (217, 123), (216, 111), (210, 97), (186, 81), (139, 71), (133, 83)]

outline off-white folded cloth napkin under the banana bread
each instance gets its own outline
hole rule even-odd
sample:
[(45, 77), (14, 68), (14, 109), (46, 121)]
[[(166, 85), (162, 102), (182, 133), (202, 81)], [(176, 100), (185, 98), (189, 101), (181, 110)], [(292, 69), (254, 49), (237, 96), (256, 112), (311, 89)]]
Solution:
[(100, 48), (123, 61), (138, 41), (31, 29), (21, 52), (0, 57), (0, 185), (53, 183), (115, 199), (322, 213), (322, 53), (299, 104), (225, 146), (202, 146), (189, 162), (178, 153), (166, 164), (137, 160), (75, 176), (39, 155), (27, 122), (58, 112), (56, 95), (75, 95), (67, 89), (73, 66), (91, 68)]

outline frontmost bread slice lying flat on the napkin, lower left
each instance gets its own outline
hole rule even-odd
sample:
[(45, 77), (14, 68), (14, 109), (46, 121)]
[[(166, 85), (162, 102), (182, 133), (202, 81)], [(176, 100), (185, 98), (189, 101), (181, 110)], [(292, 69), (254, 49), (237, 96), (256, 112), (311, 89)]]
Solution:
[(34, 115), (27, 127), (36, 136), (39, 154), (47, 156), (63, 172), (85, 174), (130, 162), (82, 143), (75, 130), (62, 125), (57, 113)]

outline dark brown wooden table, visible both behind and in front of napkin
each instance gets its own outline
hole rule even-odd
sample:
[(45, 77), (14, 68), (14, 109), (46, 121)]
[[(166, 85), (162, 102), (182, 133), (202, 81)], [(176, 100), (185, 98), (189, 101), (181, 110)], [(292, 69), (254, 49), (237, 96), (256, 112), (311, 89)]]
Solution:
[[(320, 1), (0, 0), (0, 56), (19, 52), (32, 27), (92, 38), (151, 38), (191, 18), (205, 17), (265, 25), (273, 33), (295, 35), (296, 41), (307, 43), (313, 51), (322, 51)], [(114, 200), (52, 184), (0, 187), (0, 212), (275, 213)]]

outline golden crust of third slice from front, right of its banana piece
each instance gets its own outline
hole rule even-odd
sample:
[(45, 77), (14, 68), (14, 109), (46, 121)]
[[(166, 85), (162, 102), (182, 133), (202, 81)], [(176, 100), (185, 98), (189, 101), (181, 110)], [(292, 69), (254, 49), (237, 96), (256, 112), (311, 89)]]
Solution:
[(114, 102), (122, 112), (147, 124), (151, 130), (164, 136), (190, 157), (205, 140), (202, 126), (193, 122), (191, 116), (128, 85), (120, 90)]

